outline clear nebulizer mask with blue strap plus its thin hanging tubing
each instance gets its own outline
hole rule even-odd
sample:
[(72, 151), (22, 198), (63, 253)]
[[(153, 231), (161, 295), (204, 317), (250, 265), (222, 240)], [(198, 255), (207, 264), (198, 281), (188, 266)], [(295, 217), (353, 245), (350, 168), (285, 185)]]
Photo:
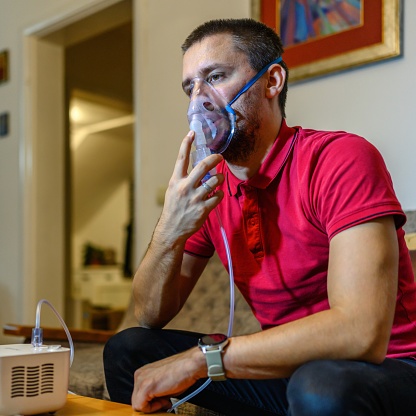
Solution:
[[(215, 89), (215, 87), (203, 78), (194, 78), (190, 82), (190, 103), (188, 107), (188, 122), (191, 130), (195, 132), (194, 150), (191, 153), (192, 166), (195, 167), (201, 160), (212, 153), (223, 153), (229, 146), (236, 128), (236, 113), (231, 105), (244, 94), (268, 69), (271, 65), (277, 64), (281, 57), (263, 67), (230, 101), (227, 100)], [(211, 175), (215, 174), (215, 168), (208, 172), (202, 179), (206, 182)], [(209, 189), (209, 186), (207, 186)], [(230, 318), (227, 336), (231, 337), (234, 323), (234, 273), (230, 248), (222, 225), (218, 209), (215, 209), (218, 223), (223, 237), (225, 251), (227, 254), (228, 269), (230, 276)], [(170, 409), (172, 412), (182, 403), (200, 393), (211, 379), (208, 378), (198, 389), (185, 398), (177, 401)]]

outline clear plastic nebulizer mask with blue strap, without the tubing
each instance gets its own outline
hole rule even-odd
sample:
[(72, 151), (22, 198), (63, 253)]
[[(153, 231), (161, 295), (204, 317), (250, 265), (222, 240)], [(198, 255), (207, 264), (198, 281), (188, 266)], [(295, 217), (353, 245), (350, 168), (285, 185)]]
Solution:
[(236, 126), (236, 114), (231, 105), (269, 69), (270, 65), (281, 60), (279, 57), (262, 68), (230, 102), (206, 80), (191, 80), (188, 122), (190, 129), (195, 132), (193, 166), (211, 153), (223, 153), (227, 149)]

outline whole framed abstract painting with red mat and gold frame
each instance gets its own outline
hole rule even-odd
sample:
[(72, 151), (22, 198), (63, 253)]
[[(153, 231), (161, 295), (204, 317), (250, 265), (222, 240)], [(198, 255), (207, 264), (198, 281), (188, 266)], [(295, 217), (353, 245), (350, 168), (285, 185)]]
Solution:
[(402, 0), (252, 0), (281, 37), (290, 81), (401, 55)]

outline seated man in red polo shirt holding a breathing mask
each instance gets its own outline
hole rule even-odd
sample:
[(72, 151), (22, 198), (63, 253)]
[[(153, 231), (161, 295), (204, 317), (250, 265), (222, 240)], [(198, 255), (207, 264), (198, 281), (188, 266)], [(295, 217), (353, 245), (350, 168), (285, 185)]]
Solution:
[[(287, 126), (283, 49), (263, 24), (208, 22), (183, 51), (188, 94), (202, 78), (231, 102), (264, 73), (234, 100), (236, 131), (222, 155), (188, 174), (194, 133), (182, 142), (134, 278), (140, 328), (105, 349), (111, 398), (144, 412), (167, 409), (210, 374), (226, 381), (192, 402), (222, 414), (413, 415), (416, 288), (405, 216), (381, 156), (352, 134)], [(213, 364), (197, 346), (201, 334), (161, 328), (214, 250), (228, 266), (214, 208), (236, 285), (263, 330), (220, 337)]]

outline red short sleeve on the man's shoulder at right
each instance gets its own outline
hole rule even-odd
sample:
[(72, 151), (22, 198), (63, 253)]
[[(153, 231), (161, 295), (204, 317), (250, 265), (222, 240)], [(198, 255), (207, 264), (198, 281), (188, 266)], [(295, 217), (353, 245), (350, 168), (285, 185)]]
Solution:
[(336, 133), (321, 142), (312, 166), (309, 198), (331, 239), (373, 218), (393, 215), (406, 221), (390, 174), (378, 150), (362, 137)]

